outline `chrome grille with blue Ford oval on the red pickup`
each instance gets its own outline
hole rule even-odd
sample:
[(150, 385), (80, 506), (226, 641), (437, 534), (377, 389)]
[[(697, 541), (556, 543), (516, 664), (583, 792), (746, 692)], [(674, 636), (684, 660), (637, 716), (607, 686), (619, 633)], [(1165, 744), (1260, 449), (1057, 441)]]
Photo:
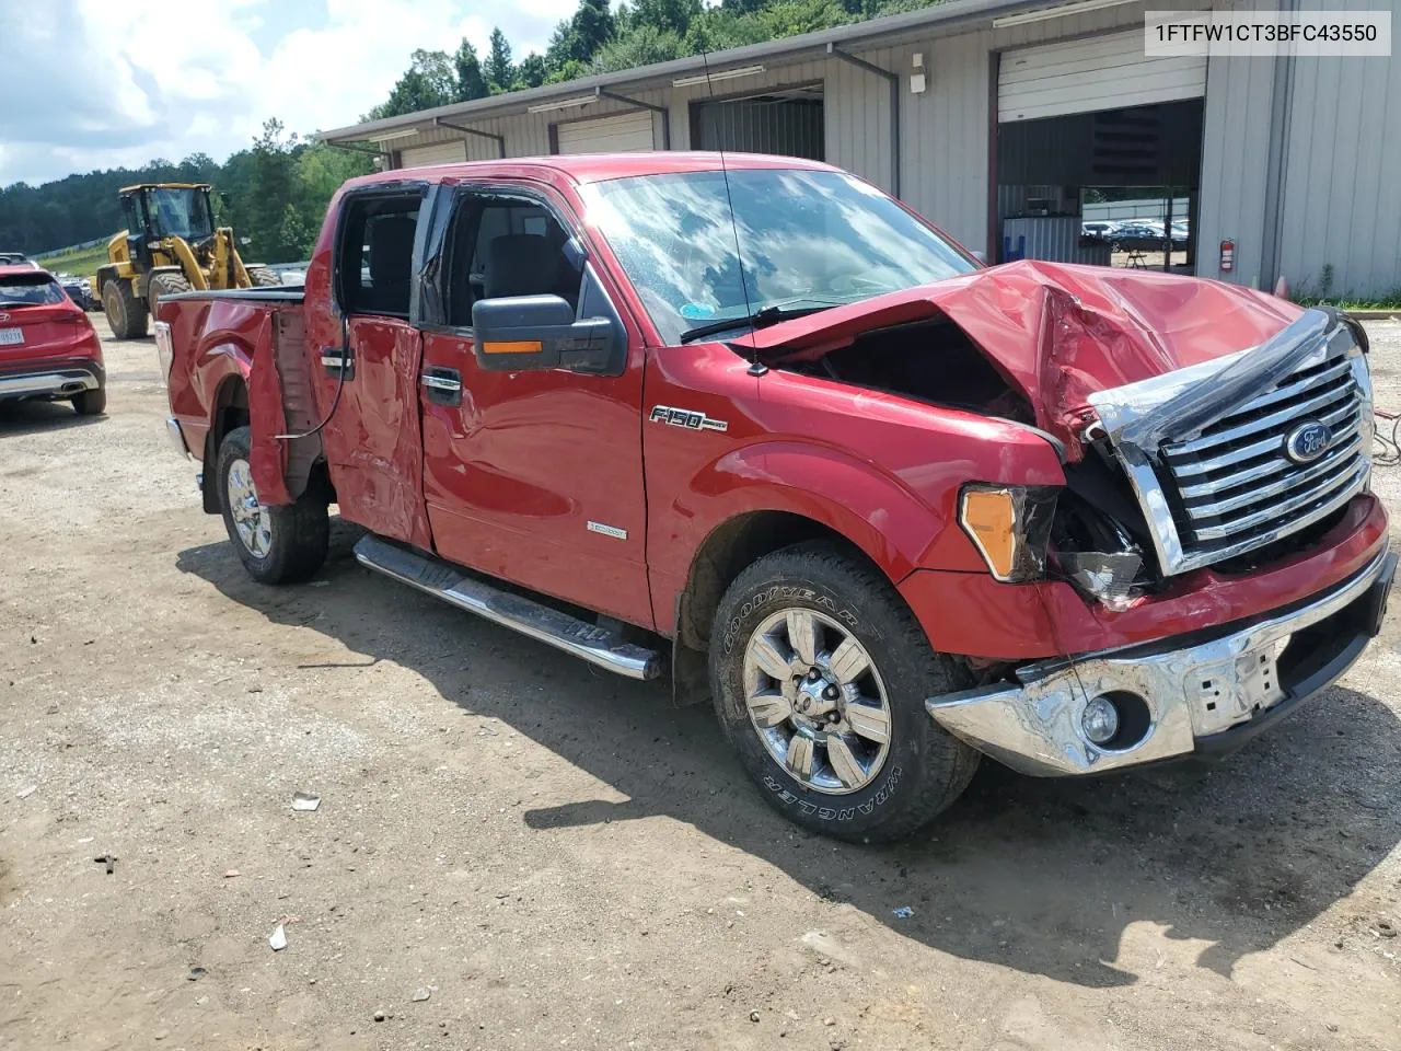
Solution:
[(1090, 444), (1122, 467), (1164, 576), (1325, 523), (1370, 476), (1363, 342), (1332, 311), (1304, 311), (1258, 348), (1089, 402)]

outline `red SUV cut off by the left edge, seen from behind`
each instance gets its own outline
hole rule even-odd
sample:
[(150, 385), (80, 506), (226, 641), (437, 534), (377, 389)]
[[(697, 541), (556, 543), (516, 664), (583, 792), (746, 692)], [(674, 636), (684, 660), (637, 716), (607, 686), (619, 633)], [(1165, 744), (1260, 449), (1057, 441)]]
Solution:
[(0, 401), (71, 401), (106, 408), (102, 345), (87, 314), (48, 270), (0, 266)]

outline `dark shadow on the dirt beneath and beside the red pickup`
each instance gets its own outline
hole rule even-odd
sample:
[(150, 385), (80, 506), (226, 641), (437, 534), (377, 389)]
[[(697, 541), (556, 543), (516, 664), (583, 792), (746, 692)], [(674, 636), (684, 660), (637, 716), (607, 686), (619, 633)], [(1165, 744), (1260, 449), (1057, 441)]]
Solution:
[[(695, 825), (848, 901), (898, 933), (1086, 987), (1129, 985), (1114, 966), (1129, 923), (1205, 943), (1230, 974), (1327, 909), (1401, 839), (1395, 716), (1334, 688), (1224, 765), (1093, 781), (1035, 781), (985, 762), (920, 838), (890, 848), (831, 842), (769, 810), (723, 744), (709, 708), (677, 710), (636, 684), (359, 568), (338, 524), (329, 587), (266, 589), (227, 544), (178, 566), (279, 624), (324, 632), (366, 663), (394, 660), (465, 712), (495, 716), (628, 796), (531, 810), (551, 830), (654, 816)], [(497, 692), (481, 682), (507, 682)], [(1345, 727), (1345, 729), (1339, 729)], [(892, 909), (909, 905), (911, 919)]]

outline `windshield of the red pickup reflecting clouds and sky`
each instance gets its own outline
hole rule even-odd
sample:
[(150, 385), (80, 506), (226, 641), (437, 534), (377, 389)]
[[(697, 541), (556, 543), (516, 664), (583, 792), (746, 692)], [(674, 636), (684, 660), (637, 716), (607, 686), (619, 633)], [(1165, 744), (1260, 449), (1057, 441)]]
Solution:
[(584, 188), (590, 219), (667, 343), (726, 318), (743, 324), (766, 307), (839, 305), (976, 269), (919, 219), (850, 175), (782, 168), (729, 175), (734, 224), (720, 171), (637, 175)]

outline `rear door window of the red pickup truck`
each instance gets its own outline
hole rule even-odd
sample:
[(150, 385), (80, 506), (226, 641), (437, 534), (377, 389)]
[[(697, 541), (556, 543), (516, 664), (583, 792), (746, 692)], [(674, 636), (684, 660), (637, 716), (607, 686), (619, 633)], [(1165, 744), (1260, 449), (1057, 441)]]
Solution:
[(417, 193), (356, 198), (346, 206), (336, 245), (336, 290), (347, 314), (409, 317)]

